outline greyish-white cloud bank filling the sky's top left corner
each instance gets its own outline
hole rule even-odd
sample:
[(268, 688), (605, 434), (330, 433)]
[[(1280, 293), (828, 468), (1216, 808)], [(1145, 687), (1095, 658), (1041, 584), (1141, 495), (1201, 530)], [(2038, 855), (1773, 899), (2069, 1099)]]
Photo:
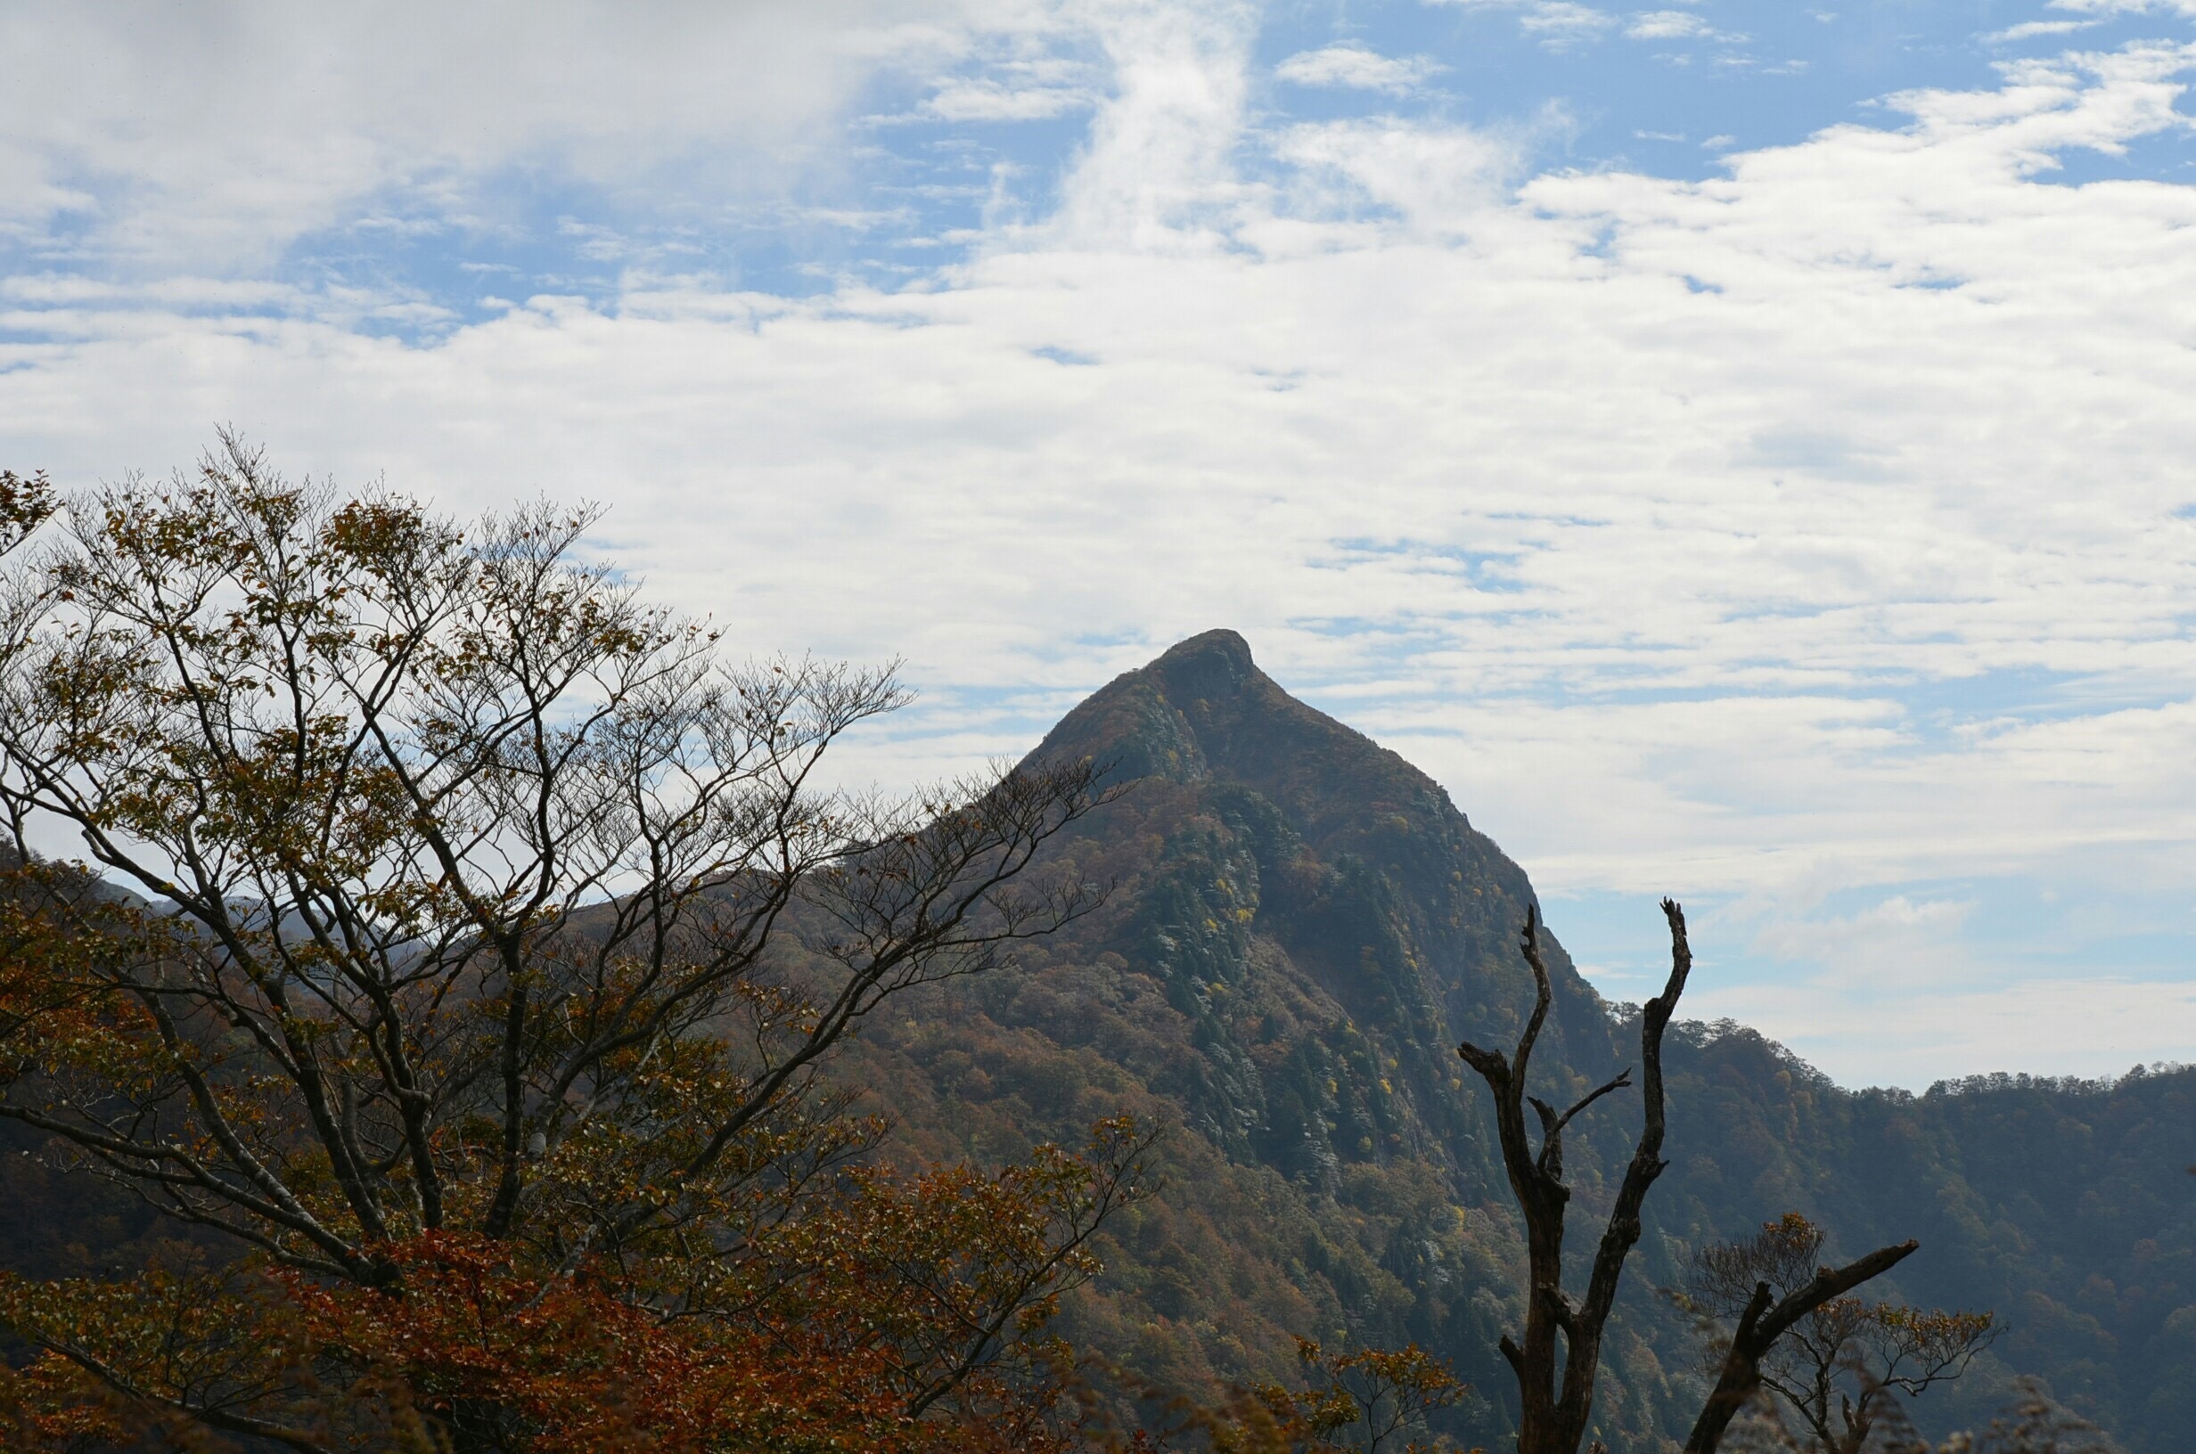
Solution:
[(479, 193), (509, 169), (773, 193), (878, 70), (1065, 24), (1034, 0), (9, 7), (0, 53), (53, 64), (0, 90), (0, 222), (68, 215), (79, 257), (235, 270), (393, 195), (413, 226), (494, 228)]

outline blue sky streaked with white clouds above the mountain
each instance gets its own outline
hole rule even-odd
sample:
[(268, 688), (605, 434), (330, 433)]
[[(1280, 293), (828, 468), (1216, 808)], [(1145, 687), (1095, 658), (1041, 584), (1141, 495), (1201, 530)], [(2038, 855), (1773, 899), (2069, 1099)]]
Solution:
[(1232, 626), (1612, 999), (2196, 1061), (2196, 0), (1654, 2), (0, 0), (0, 466), (602, 501), (885, 784)]

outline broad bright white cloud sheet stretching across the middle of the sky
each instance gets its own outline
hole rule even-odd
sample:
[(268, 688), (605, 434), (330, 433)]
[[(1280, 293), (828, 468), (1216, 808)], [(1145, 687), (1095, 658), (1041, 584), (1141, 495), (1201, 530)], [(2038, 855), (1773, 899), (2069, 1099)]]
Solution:
[[(1239, 7), (1089, 24), (1100, 105), (1061, 204), (918, 288), (635, 275), (406, 345), (354, 327), (365, 301), (250, 272), (18, 277), (7, 463), (158, 470), (233, 420), (292, 468), (452, 510), (608, 499), (602, 545), (742, 644), (909, 657), (929, 716), (856, 756), (885, 778), (1021, 749), (1078, 692), (1232, 624), (1441, 775), (1546, 892), (1728, 894), (1730, 942), (1761, 953), (1838, 925), (1968, 944), (1972, 914), (1930, 905), (1970, 896), (1919, 879), (2165, 896), (2196, 872), (2196, 523), (2174, 516), (2196, 503), (2196, 189), (2047, 180), (2069, 147), (2185, 125), (2196, 55), (2014, 66), (1706, 182), (1520, 180), (1531, 147), (1447, 121), (1258, 130)], [(832, 97), (802, 114), (854, 105)], [(114, 235), (259, 156), (213, 123), (206, 156), (132, 152), (101, 105), (79, 108), (97, 154), (145, 178), (101, 202)], [(336, 160), (365, 127), (343, 114)], [(694, 101), (650, 145), (731, 136), (727, 116)], [(358, 176), (433, 184), (463, 130), (391, 125)], [(468, 156), (549, 147), (481, 125), (503, 130)], [(740, 145), (782, 143), (753, 125)], [(299, 195), (268, 215), (334, 206)], [(248, 211), (204, 206), (215, 231)], [(2080, 694), (1983, 703), (2029, 679)], [(1829, 914), (1834, 894), (1904, 896), (1911, 922)], [(1772, 1032), (1812, 1015), (1825, 1059), (1869, 1032), (1827, 999), (1836, 969), (1755, 1006)], [(1961, 1065), (2023, 1063), (1968, 991), (1932, 984), (1884, 1054), (1972, 1037)], [(2178, 993), (2110, 991), (2084, 1045), (2174, 1054)], [(2143, 1013), (2154, 1037), (2124, 1043)]]

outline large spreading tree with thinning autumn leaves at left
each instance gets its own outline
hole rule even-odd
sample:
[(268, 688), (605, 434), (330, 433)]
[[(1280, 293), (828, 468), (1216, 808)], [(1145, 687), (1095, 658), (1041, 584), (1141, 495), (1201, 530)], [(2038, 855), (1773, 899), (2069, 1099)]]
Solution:
[[(582, 1406), (747, 1447), (696, 1399), (791, 1428), (810, 1395), (874, 1447), (1021, 1439), (1004, 1351), (1041, 1362), (1142, 1136), (894, 1182), (850, 1171), (876, 1125), (821, 1072), (892, 995), (1096, 905), (1041, 865), (1087, 764), (830, 788), (894, 672), (729, 661), (584, 558), (591, 512), (461, 527), (226, 435), (66, 510), (9, 474), (0, 512), (0, 806), (42, 927), (0, 1118), (253, 1252), (9, 1285), (55, 1379), (296, 1450), (393, 1436), (314, 1379), (395, 1379), (378, 1406), (461, 1450), (613, 1447)], [(134, 898), (61, 892), (37, 835)]]

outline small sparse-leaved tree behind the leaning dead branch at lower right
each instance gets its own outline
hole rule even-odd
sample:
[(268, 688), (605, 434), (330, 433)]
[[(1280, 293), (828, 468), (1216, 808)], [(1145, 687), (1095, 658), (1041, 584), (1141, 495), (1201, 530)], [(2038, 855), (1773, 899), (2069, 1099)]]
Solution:
[[(1711, 1377), (1722, 1384), (1744, 1335), (1761, 1349), (1752, 1357), (1757, 1386), (1799, 1423), (1810, 1454), (1860, 1454), (1878, 1423), (1897, 1417), (1897, 1395), (1915, 1397), (1963, 1375), (1998, 1324), (1992, 1313), (1873, 1302), (1849, 1291), (1812, 1300), (1825, 1283), (1858, 1285), (1862, 1274), (1915, 1250), (1902, 1243), (1875, 1254), (1875, 1263), (1829, 1270), (1823, 1241), (1820, 1228), (1790, 1212), (1755, 1237), (1700, 1248), (1676, 1300), (1704, 1324)], [(1794, 1298), (1812, 1307), (1770, 1335), (1781, 1322), (1774, 1311)]]

